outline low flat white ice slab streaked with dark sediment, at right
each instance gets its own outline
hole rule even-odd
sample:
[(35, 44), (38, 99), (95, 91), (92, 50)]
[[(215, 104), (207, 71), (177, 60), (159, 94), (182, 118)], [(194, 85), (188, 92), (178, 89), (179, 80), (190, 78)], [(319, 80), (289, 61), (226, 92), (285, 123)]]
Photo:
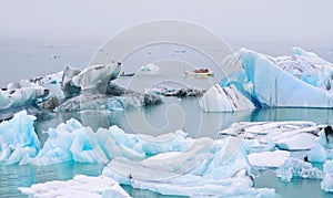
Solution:
[(278, 146), (280, 149), (302, 150), (315, 146), (315, 138), (322, 125), (313, 122), (240, 122), (221, 131), (219, 137), (243, 137), (248, 153), (268, 152)]

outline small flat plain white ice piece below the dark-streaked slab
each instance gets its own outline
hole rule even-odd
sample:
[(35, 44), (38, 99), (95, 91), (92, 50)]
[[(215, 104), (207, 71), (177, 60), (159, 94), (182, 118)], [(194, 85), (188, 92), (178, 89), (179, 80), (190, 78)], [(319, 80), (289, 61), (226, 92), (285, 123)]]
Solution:
[(249, 154), (249, 161), (256, 167), (279, 167), (290, 157), (290, 152), (274, 150)]

